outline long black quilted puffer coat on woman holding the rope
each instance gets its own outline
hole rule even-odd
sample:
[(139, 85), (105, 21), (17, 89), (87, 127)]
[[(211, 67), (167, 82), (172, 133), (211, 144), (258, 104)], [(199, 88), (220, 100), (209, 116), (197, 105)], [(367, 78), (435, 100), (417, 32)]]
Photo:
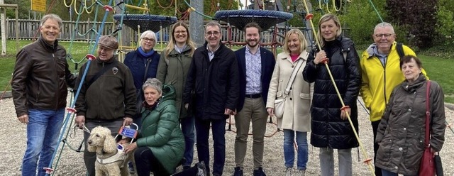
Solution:
[[(329, 58), (331, 70), (345, 106), (350, 106), (350, 119), (358, 132), (358, 107), (360, 92), (360, 60), (353, 41), (342, 36), (326, 42), (322, 48)], [(348, 120), (341, 119), (341, 101), (336, 93), (326, 66), (314, 64), (315, 53), (309, 54), (303, 77), (306, 82), (315, 82), (311, 104), (311, 145), (319, 148), (348, 149), (358, 147), (353, 128)], [(344, 59), (343, 52), (346, 53)]]

